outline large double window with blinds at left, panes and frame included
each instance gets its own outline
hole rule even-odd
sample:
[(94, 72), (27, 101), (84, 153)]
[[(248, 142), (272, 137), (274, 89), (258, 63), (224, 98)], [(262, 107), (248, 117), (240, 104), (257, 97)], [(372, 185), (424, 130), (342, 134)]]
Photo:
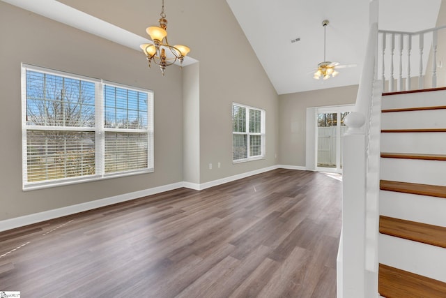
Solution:
[(23, 188), (153, 172), (153, 92), (22, 66)]

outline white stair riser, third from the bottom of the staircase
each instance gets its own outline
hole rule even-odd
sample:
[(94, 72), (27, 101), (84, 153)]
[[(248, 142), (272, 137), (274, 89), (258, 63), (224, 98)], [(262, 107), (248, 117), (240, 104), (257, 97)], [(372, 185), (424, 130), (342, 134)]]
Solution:
[(380, 179), (446, 186), (446, 161), (381, 158)]

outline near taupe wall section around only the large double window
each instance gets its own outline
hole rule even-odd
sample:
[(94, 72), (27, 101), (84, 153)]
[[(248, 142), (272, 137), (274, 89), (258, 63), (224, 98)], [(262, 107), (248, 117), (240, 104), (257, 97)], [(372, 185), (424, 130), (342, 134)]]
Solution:
[[(0, 1), (0, 220), (183, 181), (183, 99), (178, 67), (166, 77), (144, 55)], [(155, 91), (155, 172), (22, 191), (20, 64)]]

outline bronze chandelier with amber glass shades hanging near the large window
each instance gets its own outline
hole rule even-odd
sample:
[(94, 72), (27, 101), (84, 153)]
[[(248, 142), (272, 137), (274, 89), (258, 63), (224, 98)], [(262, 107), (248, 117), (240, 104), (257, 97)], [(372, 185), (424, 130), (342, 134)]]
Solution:
[(183, 66), (183, 59), (190, 52), (190, 49), (185, 45), (169, 45), (167, 41), (167, 20), (164, 13), (164, 0), (162, 0), (160, 16), (161, 18), (158, 20), (160, 27), (152, 26), (146, 29), (147, 34), (153, 40), (153, 44), (144, 43), (139, 47), (146, 54), (148, 67), (151, 67), (152, 62), (159, 65), (164, 76), (166, 66), (174, 64), (177, 60), (180, 61), (180, 67)]

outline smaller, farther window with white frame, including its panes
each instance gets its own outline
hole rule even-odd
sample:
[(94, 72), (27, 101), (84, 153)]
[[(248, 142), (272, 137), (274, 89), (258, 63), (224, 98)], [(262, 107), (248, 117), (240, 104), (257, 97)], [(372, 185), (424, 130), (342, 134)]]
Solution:
[(234, 163), (265, 157), (265, 111), (232, 104), (232, 159)]

